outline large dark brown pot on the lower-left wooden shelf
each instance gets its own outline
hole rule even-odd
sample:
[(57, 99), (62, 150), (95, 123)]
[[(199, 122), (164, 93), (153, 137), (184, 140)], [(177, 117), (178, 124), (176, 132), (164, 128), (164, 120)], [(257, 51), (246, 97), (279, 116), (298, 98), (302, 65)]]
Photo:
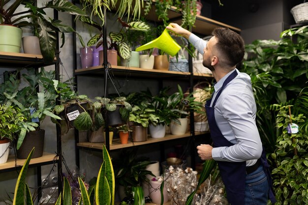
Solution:
[(41, 157), (44, 150), (45, 130), (35, 130), (27, 133), (22, 145), (17, 150), (18, 159), (27, 159), (33, 147), (32, 158)]

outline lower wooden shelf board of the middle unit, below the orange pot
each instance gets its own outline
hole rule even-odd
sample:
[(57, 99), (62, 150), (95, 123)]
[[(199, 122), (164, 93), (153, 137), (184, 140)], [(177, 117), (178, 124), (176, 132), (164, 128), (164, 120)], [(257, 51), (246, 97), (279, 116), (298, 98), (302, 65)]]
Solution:
[[(175, 140), (175, 139), (181, 139), (181, 138), (185, 138), (185, 137), (189, 137), (189, 136), (191, 136), (190, 133), (185, 133), (184, 135), (167, 134), (163, 138), (152, 138), (152, 137), (148, 136), (148, 140), (145, 141), (145, 142), (134, 142), (134, 143), (129, 142), (128, 144), (121, 144), (120, 139), (115, 139), (115, 140), (112, 141), (112, 145), (110, 145), (110, 150), (121, 149), (121, 148), (131, 147), (131, 146), (147, 145), (147, 144), (164, 142), (164, 141)], [(104, 143), (80, 142), (80, 143), (77, 143), (77, 146), (94, 148), (94, 149), (102, 149), (103, 144)]]

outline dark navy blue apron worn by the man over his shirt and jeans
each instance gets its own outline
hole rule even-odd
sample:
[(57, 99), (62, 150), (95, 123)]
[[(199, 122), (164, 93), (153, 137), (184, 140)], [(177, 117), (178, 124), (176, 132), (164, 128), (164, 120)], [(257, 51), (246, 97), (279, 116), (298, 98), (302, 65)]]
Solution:
[[(224, 81), (222, 87), (217, 92), (214, 99), (212, 107), (211, 100), (208, 100), (205, 109), (207, 112), (207, 117), (210, 125), (211, 138), (214, 143), (214, 147), (220, 146), (233, 146), (220, 132), (215, 119), (215, 105), (218, 97), (221, 94), (221, 91), (226, 87), (226, 85), (232, 81), (238, 75), (235, 70), (231, 73), (228, 78)], [(264, 167), (265, 174), (268, 178), (270, 193), (269, 197), (271, 201), (276, 201), (273, 188), (272, 188), (272, 178), (269, 170), (269, 165), (266, 160), (264, 149), (262, 150), (261, 162)], [(227, 199), (231, 205), (244, 205), (245, 204), (245, 180), (246, 180), (246, 161), (245, 162), (221, 162), (217, 161), (219, 172), (222, 178), (222, 181), (225, 185)]]

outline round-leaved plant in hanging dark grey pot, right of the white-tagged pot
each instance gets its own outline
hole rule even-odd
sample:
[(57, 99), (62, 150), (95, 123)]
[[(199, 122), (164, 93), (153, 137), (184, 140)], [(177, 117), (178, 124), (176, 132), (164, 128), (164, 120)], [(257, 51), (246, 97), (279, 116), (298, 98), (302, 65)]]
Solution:
[(116, 126), (126, 123), (129, 118), (129, 113), (132, 110), (131, 105), (126, 102), (125, 97), (116, 97), (109, 99), (106, 97), (95, 97), (99, 100), (106, 114), (108, 126)]

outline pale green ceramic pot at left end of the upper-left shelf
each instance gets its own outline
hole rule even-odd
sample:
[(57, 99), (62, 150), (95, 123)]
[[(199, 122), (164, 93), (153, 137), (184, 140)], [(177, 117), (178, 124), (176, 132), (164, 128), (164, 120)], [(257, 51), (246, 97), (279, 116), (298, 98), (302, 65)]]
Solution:
[(11, 26), (0, 25), (0, 51), (20, 53), (23, 30)]

